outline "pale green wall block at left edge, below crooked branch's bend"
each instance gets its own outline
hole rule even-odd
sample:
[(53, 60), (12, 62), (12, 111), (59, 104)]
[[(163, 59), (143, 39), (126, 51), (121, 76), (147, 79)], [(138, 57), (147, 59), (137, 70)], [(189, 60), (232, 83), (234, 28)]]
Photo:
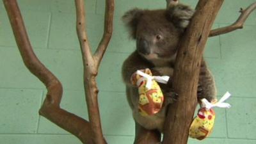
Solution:
[(41, 90), (0, 89), (0, 133), (35, 133), (41, 99)]

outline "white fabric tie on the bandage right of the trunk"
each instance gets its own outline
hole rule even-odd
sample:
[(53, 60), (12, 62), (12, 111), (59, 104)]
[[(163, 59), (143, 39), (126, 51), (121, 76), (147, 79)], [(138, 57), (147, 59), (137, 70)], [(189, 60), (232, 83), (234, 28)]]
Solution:
[(206, 109), (211, 109), (214, 107), (218, 107), (218, 108), (230, 108), (230, 104), (228, 104), (227, 102), (224, 102), (225, 100), (227, 100), (229, 97), (231, 96), (231, 94), (229, 92), (225, 93), (225, 95), (223, 95), (223, 97), (221, 97), (221, 99), (216, 102), (215, 104), (212, 104), (211, 102), (209, 102), (207, 99), (202, 99), (202, 107), (206, 108)]

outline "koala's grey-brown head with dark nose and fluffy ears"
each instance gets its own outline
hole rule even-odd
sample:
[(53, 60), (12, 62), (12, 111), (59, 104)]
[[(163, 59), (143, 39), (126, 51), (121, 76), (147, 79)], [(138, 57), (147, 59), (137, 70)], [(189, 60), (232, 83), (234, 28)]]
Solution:
[[(176, 13), (175, 13), (176, 12)], [(147, 60), (170, 58), (177, 52), (179, 40), (188, 26), (184, 13), (177, 10), (133, 9), (122, 17), (136, 40), (136, 50)], [(189, 17), (189, 19), (191, 16)]]

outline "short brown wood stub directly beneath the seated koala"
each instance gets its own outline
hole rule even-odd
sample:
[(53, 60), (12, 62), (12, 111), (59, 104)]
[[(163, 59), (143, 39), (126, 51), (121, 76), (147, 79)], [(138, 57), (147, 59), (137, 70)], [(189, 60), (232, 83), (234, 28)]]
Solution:
[(157, 130), (148, 130), (135, 122), (136, 136), (134, 144), (159, 144), (161, 143), (161, 133)]

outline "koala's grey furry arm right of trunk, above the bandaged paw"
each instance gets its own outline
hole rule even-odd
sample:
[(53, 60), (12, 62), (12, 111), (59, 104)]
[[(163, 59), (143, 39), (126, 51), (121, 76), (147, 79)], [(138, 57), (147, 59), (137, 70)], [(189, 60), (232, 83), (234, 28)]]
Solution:
[(205, 61), (202, 59), (199, 75), (198, 99), (207, 99), (209, 102), (216, 100), (216, 86), (214, 77), (212, 76)]

